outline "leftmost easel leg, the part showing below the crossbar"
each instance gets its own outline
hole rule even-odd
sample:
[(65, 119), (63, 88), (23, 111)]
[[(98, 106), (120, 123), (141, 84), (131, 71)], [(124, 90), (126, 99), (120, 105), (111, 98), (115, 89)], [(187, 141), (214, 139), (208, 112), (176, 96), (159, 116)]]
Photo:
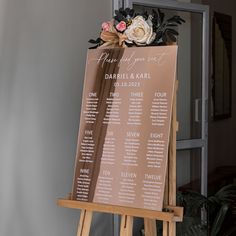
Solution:
[(92, 211), (87, 211), (87, 210), (81, 211), (77, 236), (89, 236), (92, 216), (93, 216)]

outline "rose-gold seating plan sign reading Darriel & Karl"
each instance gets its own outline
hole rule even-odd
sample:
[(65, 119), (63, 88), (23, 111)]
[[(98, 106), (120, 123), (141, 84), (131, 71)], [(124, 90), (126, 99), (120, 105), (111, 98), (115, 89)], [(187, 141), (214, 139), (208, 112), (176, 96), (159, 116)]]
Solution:
[(87, 54), (72, 199), (161, 211), (177, 46)]

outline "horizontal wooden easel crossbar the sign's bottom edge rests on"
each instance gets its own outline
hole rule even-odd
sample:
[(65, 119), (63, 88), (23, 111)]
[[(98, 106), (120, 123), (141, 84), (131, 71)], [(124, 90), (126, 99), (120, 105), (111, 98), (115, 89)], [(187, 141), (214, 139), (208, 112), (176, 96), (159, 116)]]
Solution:
[(90, 202), (81, 202), (76, 200), (58, 199), (57, 204), (61, 207), (88, 210), (93, 212), (105, 212), (119, 215), (128, 215), (156, 219), (167, 222), (181, 222), (183, 219), (183, 208), (176, 206), (165, 206), (169, 212), (161, 212), (147, 209), (137, 209), (131, 207), (122, 207), (106, 204), (96, 204)]

